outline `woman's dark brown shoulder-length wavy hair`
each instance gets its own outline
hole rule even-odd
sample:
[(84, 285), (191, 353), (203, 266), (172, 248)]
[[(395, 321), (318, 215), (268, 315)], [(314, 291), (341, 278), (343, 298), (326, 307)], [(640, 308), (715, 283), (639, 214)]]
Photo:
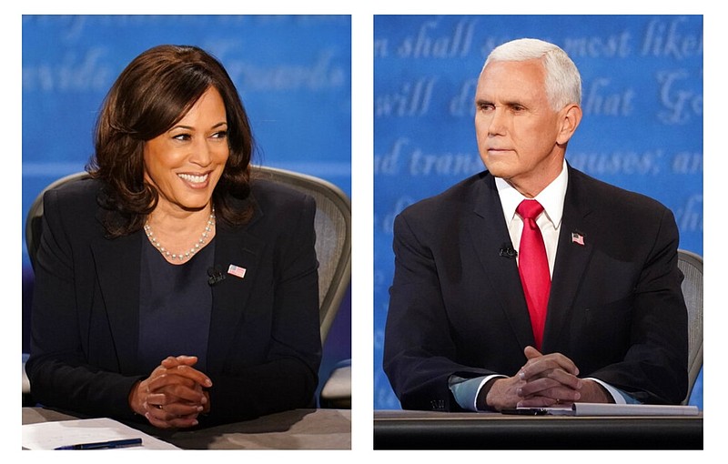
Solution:
[[(104, 181), (99, 197), (107, 215), (109, 237), (131, 234), (144, 226), (157, 207), (158, 193), (144, 180), (144, 146), (182, 119), (207, 89), (215, 87), (225, 103), (229, 156), (213, 192), (217, 217), (244, 224), (252, 216), (248, 198), (254, 140), (248, 115), (227, 71), (196, 46), (159, 45), (138, 55), (111, 87), (96, 122), (96, 154), (86, 167)], [(246, 205), (240, 207), (239, 204)]]

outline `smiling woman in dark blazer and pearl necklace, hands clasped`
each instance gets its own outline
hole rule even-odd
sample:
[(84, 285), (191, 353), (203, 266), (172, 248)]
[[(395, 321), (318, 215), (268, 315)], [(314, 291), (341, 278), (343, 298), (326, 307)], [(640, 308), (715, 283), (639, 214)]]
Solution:
[(44, 198), (34, 397), (189, 428), (313, 404), (321, 356), (311, 197), (251, 178), (238, 92), (161, 45), (112, 86), (91, 179)]

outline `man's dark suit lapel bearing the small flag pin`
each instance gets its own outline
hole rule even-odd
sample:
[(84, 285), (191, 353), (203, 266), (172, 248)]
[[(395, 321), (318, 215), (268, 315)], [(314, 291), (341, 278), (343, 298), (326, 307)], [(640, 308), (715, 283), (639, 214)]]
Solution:
[[(594, 250), (596, 234), (593, 232), (594, 227), (598, 225), (595, 224), (589, 197), (583, 191), (581, 180), (570, 167), (559, 245), (551, 278), (551, 298), (543, 335), (545, 352), (559, 346), (561, 334), (571, 320), (573, 302), (576, 300), (581, 279), (586, 274)], [(579, 243), (580, 236), (583, 245)]]

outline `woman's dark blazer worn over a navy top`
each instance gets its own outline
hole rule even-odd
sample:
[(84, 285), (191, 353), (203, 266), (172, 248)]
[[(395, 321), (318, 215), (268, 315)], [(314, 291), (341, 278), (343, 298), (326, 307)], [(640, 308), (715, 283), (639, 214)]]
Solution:
[[(105, 237), (99, 187), (84, 180), (45, 195), (26, 369), (46, 406), (132, 419), (129, 392), (150, 374), (136, 365), (147, 238), (142, 231)], [(314, 201), (262, 180), (252, 192), (256, 212), (246, 226), (217, 221), (215, 264), (247, 273), (212, 288), (206, 374), (213, 387), (201, 425), (310, 407), (318, 384)]]

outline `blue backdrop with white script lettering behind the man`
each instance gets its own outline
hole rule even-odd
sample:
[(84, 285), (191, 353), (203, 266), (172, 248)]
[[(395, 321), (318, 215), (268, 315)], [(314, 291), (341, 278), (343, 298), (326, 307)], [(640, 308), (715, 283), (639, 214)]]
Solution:
[[(399, 409), (381, 369), (403, 207), (483, 169), (473, 95), (496, 45), (535, 37), (581, 70), (583, 119), (567, 160), (670, 207), (703, 255), (703, 17), (390, 16), (374, 19), (374, 408)], [(692, 402), (703, 407), (703, 376)]]

